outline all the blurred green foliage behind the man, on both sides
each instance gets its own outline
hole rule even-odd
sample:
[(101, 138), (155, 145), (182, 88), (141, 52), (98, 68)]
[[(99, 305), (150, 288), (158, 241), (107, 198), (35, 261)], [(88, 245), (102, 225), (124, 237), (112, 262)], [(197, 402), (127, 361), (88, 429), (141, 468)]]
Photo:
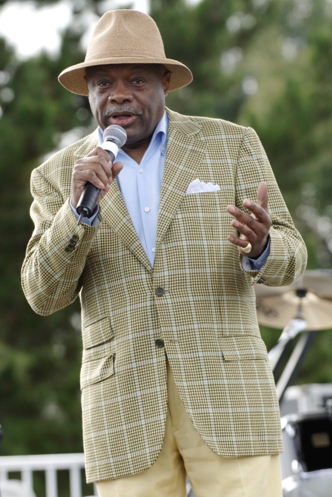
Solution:
[[(3, 454), (82, 451), (79, 304), (35, 315), (21, 291), (20, 267), (32, 232), (31, 170), (94, 127), (87, 99), (66, 91), (58, 74), (84, 59), (84, 13), (109, 8), (98, 0), (73, 5), (57, 56), (21, 61), (0, 38)], [(194, 75), (167, 105), (254, 127), (306, 241), (308, 267), (331, 267), (332, 1), (151, 0), (150, 13), (166, 55)], [(267, 348), (279, 333), (262, 329)], [(332, 382), (331, 331), (317, 335), (296, 382)]]

